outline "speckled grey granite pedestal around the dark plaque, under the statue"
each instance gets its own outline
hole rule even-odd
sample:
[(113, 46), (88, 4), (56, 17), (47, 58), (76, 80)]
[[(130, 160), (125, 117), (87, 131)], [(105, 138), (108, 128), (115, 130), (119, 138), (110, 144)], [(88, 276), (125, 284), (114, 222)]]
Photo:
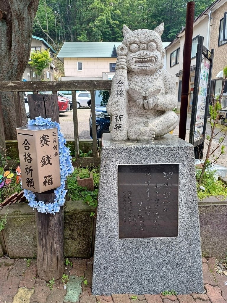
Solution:
[[(118, 165), (154, 163), (179, 163), (177, 234), (119, 238)], [(177, 294), (204, 291), (194, 148), (174, 135), (149, 143), (117, 142), (104, 134), (92, 293), (141, 295), (171, 289)]]

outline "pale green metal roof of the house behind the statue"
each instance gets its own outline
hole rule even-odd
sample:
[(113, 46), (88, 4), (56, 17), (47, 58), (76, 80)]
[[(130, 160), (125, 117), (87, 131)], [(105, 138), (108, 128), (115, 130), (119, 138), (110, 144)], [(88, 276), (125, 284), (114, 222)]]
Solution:
[[(163, 42), (165, 48), (169, 42)], [(121, 42), (64, 42), (58, 58), (112, 58)]]

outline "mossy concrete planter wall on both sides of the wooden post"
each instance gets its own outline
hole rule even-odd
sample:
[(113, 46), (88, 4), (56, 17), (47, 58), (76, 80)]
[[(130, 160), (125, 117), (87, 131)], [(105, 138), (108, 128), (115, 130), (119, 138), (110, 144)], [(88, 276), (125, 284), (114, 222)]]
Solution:
[[(36, 255), (35, 211), (24, 204), (8, 208), (4, 228), (5, 244), (10, 258), (33, 258)], [(66, 257), (90, 258), (93, 230), (92, 208), (81, 201), (67, 201), (64, 208), (64, 254)], [(0, 256), (3, 251), (0, 248)]]

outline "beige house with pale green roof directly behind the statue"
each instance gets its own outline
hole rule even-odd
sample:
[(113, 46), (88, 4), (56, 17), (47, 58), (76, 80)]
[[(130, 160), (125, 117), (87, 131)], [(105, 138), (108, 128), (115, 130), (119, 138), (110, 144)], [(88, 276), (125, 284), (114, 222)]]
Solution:
[[(65, 42), (58, 58), (64, 63), (61, 80), (113, 78), (120, 42)], [(164, 42), (165, 48), (169, 42)]]

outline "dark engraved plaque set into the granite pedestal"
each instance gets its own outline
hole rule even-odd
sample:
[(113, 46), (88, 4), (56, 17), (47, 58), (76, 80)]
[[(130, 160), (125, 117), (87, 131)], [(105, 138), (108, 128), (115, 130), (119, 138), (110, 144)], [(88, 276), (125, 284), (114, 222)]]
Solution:
[(118, 165), (119, 238), (177, 237), (179, 164)]

